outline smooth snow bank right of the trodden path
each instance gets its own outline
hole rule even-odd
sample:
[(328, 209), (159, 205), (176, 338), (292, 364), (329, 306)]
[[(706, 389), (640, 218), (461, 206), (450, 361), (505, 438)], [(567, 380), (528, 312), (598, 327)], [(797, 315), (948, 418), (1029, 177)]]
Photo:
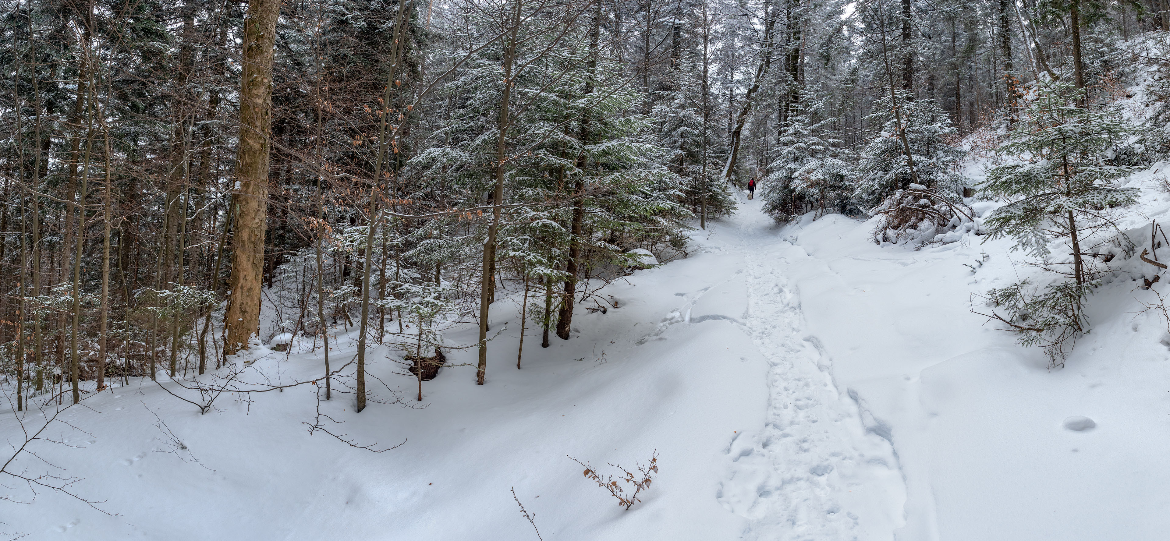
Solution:
[[(838, 386), (899, 453), (899, 539), (1163, 536), (1170, 465), (1155, 450), (1170, 438), (1166, 321), (1137, 313), (1152, 293), (1130, 280), (1102, 287), (1090, 298), (1094, 330), (1048, 372), (1038, 348), (970, 312), (972, 293), (1018, 279), (1011, 241), (966, 234), (913, 251), (861, 242), (867, 234), (837, 215), (783, 231)], [(1069, 429), (1074, 417), (1096, 426)]]

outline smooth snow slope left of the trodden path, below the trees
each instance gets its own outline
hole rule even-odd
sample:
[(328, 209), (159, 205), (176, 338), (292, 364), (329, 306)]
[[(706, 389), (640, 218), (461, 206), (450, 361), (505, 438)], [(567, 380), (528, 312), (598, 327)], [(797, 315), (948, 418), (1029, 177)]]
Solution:
[[(687, 326), (672, 314), (741, 264), (711, 252), (638, 272), (604, 290), (622, 299), (620, 307), (605, 314), (583, 307), (572, 340), (553, 337), (549, 348), (529, 320), (519, 370), (519, 317), (515, 305), (497, 303), (493, 332), (501, 334), (491, 341), (486, 386), (475, 384), (474, 368), (449, 367), (424, 384), (422, 409), (374, 403), (356, 415), (344, 394), (322, 403), (322, 412), (344, 422), (330, 426), (346, 439), (376, 448), (405, 442), (383, 453), (310, 436), (303, 423), (316, 411), (311, 384), (225, 394), (199, 415), (156, 383), (133, 380), (67, 411), (91, 436), (63, 425), (55, 435), (77, 449), (37, 448), (84, 478), (77, 493), (105, 500), (99, 507), (117, 516), (42, 492), (29, 505), (4, 507), (12, 525), (5, 529), (94, 540), (536, 539), (509, 492), (515, 487), (546, 540), (735, 539), (748, 520), (727, 512), (716, 491), (730, 443), (764, 424), (766, 361), (732, 321)], [(509, 293), (518, 294), (501, 292)], [(703, 306), (736, 315), (742, 298)], [(356, 337), (333, 332), (336, 368), (355, 355)], [(447, 333), (450, 344), (474, 337), (472, 326)], [(298, 340), (305, 351), (310, 342)], [(447, 353), (449, 365), (475, 360), (474, 349)], [(273, 384), (319, 380), (323, 370), (319, 347), (294, 351), (285, 362), (284, 353), (254, 344), (235, 366), (245, 358), (246, 377)], [(406, 373), (399, 358), (374, 347), (370, 370), (414, 405), (414, 380), (397, 374)], [(392, 397), (377, 381), (369, 384), (377, 398)], [(186, 450), (167, 443), (154, 414)], [(0, 431), (19, 434), (12, 416), (0, 419)], [(606, 471), (606, 463), (632, 467), (655, 450), (661, 473), (628, 512), (566, 457)], [(22, 464), (37, 467), (33, 459)]]

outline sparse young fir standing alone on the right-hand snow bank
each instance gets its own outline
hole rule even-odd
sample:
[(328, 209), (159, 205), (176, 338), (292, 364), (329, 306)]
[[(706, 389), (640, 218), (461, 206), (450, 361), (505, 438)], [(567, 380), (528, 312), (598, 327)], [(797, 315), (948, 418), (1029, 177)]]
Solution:
[[(987, 219), (987, 238), (1014, 237), (1016, 249), (1059, 277), (1044, 286), (1025, 279), (989, 291), (990, 301), (1006, 310), (990, 317), (1007, 324), (1021, 345), (1042, 346), (1053, 367), (1064, 365), (1066, 346), (1088, 330), (1081, 306), (1103, 275), (1094, 266), (1100, 254), (1085, 247), (1103, 231), (1115, 238), (1113, 209), (1137, 197), (1136, 188), (1115, 185), (1136, 168), (1109, 162), (1133, 127), (1113, 106), (1078, 106), (1082, 96), (1068, 83), (1039, 82), (999, 150), (1014, 161), (990, 169), (982, 185), (984, 196), (1009, 201)], [(1054, 242), (1067, 247), (1071, 261), (1053, 256)]]

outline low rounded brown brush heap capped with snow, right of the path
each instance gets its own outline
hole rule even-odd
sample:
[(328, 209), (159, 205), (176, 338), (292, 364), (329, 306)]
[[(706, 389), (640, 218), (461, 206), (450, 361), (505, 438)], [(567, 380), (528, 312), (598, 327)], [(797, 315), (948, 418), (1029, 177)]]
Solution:
[(975, 210), (957, 197), (945, 197), (925, 186), (911, 183), (894, 192), (869, 210), (876, 216), (874, 241), (879, 244), (951, 243), (968, 231), (979, 231)]

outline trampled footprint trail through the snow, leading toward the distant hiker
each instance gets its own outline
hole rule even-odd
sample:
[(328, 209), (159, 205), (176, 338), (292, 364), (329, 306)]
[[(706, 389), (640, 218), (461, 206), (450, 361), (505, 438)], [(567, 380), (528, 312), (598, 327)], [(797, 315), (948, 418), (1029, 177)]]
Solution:
[(882, 426), (867, 428), (858, 403), (837, 388), (832, 361), (804, 328), (787, 258), (805, 257), (779, 237), (758, 201), (741, 206), (722, 249), (739, 252), (746, 277), (744, 332), (768, 360), (765, 424), (741, 434), (717, 497), (749, 520), (744, 539), (887, 540), (903, 525), (906, 488)]

